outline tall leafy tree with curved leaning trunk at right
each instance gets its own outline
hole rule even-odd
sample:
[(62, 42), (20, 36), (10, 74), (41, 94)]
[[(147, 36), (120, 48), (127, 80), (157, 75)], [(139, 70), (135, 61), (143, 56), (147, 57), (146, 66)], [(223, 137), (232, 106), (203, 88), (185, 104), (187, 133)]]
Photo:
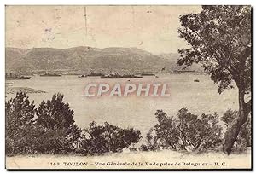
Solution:
[[(180, 38), (189, 48), (179, 49), (178, 65), (200, 63), (210, 74), (218, 93), (238, 89), (239, 117), (224, 136), (224, 152), (231, 153), (241, 126), (251, 112), (251, 100), (245, 95), (251, 90), (251, 8), (248, 6), (202, 6), (199, 14), (180, 16)], [(185, 68), (184, 67), (184, 68)]]

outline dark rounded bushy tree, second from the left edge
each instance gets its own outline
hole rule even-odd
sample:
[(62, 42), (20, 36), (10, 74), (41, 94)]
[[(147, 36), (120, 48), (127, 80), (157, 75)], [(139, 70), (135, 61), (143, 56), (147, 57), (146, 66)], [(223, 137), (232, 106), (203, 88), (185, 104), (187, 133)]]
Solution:
[(57, 94), (41, 102), (36, 119), (37, 151), (40, 153), (67, 154), (78, 147), (81, 130), (74, 124), (73, 110)]

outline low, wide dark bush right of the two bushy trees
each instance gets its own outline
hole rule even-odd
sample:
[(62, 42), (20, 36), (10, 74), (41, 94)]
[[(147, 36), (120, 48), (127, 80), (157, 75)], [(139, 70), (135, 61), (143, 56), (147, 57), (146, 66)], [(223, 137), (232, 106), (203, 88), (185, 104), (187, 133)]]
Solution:
[(119, 152), (132, 143), (137, 143), (141, 138), (140, 135), (141, 132), (133, 128), (122, 129), (108, 122), (104, 125), (96, 125), (96, 122), (92, 122), (88, 129), (83, 130), (79, 148), (83, 154)]

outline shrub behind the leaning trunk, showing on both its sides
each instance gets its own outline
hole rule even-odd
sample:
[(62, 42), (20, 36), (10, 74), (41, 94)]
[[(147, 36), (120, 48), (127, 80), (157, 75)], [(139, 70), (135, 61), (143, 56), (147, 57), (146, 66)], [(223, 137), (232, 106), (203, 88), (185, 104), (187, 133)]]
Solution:
[[(237, 117), (239, 117), (238, 111), (228, 109), (222, 116), (221, 120), (228, 128)], [(234, 147), (232, 148), (233, 151), (243, 151), (245, 148), (251, 146), (251, 124), (251, 114), (249, 114), (246, 123), (241, 126)]]

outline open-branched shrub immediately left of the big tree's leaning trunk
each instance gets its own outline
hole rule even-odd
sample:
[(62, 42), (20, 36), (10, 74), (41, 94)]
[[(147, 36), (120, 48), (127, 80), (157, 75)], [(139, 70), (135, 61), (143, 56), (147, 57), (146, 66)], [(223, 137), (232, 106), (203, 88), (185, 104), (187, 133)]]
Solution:
[(218, 125), (218, 114), (189, 113), (187, 108), (182, 108), (177, 113), (178, 130), (181, 134), (183, 149), (189, 147), (191, 150), (202, 150), (218, 146), (221, 140), (221, 127)]

